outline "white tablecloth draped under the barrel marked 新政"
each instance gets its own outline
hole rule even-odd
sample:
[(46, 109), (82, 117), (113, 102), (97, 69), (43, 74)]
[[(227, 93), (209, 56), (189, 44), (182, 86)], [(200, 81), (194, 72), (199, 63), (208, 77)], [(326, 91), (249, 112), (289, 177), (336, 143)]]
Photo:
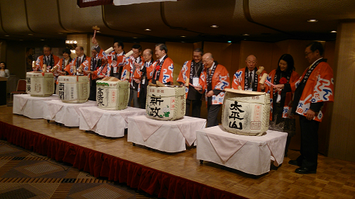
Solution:
[(129, 117), (127, 141), (162, 152), (182, 152), (196, 140), (206, 120), (184, 116), (180, 120), (153, 120), (146, 115)]

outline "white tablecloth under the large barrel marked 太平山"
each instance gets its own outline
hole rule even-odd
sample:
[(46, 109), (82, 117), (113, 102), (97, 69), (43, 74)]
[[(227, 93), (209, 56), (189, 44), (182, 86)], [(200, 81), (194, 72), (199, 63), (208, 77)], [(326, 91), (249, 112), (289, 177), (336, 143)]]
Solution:
[(268, 130), (266, 135), (246, 136), (226, 132), (222, 126), (196, 132), (197, 159), (212, 161), (247, 174), (261, 175), (283, 163), (287, 133)]

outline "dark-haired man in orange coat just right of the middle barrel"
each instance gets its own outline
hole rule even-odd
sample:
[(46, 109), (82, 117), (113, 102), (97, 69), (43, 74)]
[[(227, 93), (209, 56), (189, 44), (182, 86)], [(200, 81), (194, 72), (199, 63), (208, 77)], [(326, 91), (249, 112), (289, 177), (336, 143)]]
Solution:
[(124, 69), (122, 70), (121, 74), (121, 80), (127, 80), (130, 83), (129, 86), (129, 104), (128, 106), (131, 106), (131, 101), (133, 98), (133, 106), (134, 108), (139, 108), (139, 102), (138, 102), (138, 87), (139, 87), (139, 82), (133, 80), (133, 74), (136, 72), (136, 69), (140, 69), (141, 66), (143, 65), (144, 59), (141, 57), (141, 51), (142, 47), (141, 45), (133, 45), (132, 46), (132, 51), (133, 54), (131, 57), (129, 57), (127, 64), (124, 66)]

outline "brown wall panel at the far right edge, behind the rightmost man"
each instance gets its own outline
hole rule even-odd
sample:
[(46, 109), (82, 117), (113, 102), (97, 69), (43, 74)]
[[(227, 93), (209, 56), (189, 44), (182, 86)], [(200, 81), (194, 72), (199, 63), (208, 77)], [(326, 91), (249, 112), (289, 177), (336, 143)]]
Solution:
[(355, 161), (355, 23), (337, 28), (337, 71), (329, 137), (329, 157)]

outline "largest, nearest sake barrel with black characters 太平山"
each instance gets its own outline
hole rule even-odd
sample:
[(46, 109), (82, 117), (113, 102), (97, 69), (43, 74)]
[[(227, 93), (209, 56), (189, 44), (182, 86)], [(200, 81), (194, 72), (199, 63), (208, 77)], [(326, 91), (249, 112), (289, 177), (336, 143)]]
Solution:
[(262, 135), (268, 130), (270, 96), (268, 93), (226, 89), (222, 126), (239, 135)]

